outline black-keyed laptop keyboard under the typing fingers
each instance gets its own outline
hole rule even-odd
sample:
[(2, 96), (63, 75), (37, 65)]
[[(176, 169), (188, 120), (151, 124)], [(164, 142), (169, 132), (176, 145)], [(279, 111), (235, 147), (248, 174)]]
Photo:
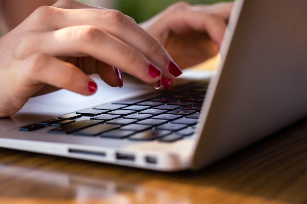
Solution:
[[(50, 134), (174, 142), (191, 136), (200, 116), (208, 81), (185, 84), (159, 95), (102, 104), (19, 128)], [(77, 121), (75, 119), (78, 119)]]

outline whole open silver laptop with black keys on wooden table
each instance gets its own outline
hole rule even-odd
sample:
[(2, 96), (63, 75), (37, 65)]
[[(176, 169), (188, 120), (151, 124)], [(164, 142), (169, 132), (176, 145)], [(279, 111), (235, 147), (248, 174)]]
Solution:
[(306, 9), (305, 0), (236, 1), (210, 80), (169, 92), (129, 77), (111, 88), (93, 76), (93, 96), (61, 90), (1, 118), (0, 147), (200, 169), (307, 116)]

